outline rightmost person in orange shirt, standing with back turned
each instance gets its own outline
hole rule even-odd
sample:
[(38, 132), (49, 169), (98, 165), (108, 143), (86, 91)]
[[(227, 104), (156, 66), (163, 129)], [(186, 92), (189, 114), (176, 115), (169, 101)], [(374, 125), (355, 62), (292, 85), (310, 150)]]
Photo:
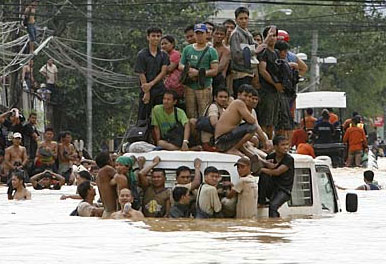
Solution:
[(361, 165), (362, 151), (368, 150), (365, 132), (357, 126), (360, 122), (361, 117), (359, 115), (353, 117), (353, 126), (347, 128), (343, 137), (343, 142), (348, 143), (346, 166), (351, 166), (354, 161), (354, 165), (359, 167)]

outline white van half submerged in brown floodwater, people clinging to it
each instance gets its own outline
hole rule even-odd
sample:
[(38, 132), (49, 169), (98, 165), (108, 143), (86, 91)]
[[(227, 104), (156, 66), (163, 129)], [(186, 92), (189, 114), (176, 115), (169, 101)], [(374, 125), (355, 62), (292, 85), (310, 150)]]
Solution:
[[(285, 217), (340, 212), (339, 198), (330, 171), (331, 161), (329, 158), (313, 159), (306, 155), (291, 155), (295, 160), (292, 197), (279, 209), (280, 215)], [(231, 181), (235, 184), (239, 180), (234, 164), (240, 157), (236, 155), (204, 151), (152, 151), (147, 153), (126, 153), (125, 156), (143, 156), (146, 159), (145, 166), (151, 163), (154, 157), (159, 156), (161, 162), (157, 168), (166, 171), (166, 187), (174, 186), (176, 170), (179, 166), (187, 166), (193, 172), (195, 158), (202, 160), (202, 175), (205, 168), (209, 166), (214, 166), (220, 171), (219, 186), (221, 186), (222, 181)], [(256, 177), (257, 181), (258, 176)], [(268, 217), (268, 208), (259, 208), (258, 217)]]

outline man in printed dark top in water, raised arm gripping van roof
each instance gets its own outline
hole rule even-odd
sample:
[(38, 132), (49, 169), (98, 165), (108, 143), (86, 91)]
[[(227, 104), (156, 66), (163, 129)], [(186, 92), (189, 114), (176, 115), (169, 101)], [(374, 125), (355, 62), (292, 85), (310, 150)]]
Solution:
[[(142, 212), (146, 217), (168, 217), (169, 215), (170, 189), (165, 187), (165, 170), (155, 168), (160, 161), (160, 157), (156, 156), (152, 164), (138, 173), (140, 186), (144, 191)], [(147, 175), (151, 170), (150, 182)]]

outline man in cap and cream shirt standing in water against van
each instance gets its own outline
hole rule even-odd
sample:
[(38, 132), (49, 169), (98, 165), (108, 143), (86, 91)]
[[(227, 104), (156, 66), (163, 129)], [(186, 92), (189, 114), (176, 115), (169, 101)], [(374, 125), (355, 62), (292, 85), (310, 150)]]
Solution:
[(253, 218), (257, 216), (257, 184), (251, 175), (251, 162), (247, 158), (240, 158), (235, 166), (240, 179), (232, 187), (227, 198), (237, 195), (236, 218)]

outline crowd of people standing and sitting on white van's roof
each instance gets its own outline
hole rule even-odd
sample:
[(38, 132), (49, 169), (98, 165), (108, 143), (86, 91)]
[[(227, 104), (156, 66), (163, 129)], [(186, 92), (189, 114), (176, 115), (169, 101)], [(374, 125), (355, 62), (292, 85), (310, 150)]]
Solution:
[(252, 34), (248, 20), (249, 10), (239, 7), (235, 20), (188, 26), (182, 53), (173, 36), (147, 30), (134, 68), (141, 89), (133, 131), (143, 141), (248, 157), (255, 172), (274, 135), (292, 137), (295, 86), (307, 65), (289, 51), (285, 31), (280, 40), (276, 26)]

